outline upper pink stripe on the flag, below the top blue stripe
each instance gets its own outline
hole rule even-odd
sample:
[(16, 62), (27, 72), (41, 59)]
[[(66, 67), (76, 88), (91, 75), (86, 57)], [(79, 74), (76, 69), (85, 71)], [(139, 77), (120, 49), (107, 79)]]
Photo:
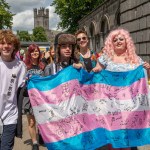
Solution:
[(115, 98), (116, 100), (129, 100), (138, 94), (147, 94), (146, 80), (141, 80), (127, 87), (115, 87), (104, 84), (80, 85), (77, 80), (61, 84), (50, 91), (38, 91), (30, 89), (29, 95), (32, 106), (42, 105), (44, 103), (59, 104), (68, 100), (69, 95), (82, 96), (91, 101), (96, 99)]

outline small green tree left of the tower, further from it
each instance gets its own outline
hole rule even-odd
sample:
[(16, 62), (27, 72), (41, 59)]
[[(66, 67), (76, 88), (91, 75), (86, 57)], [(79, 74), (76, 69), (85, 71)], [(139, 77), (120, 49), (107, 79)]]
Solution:
[(28, 33), (28, 31), (17, 31), (17, 35), (20, 41), (32, 41), (31, 35)]

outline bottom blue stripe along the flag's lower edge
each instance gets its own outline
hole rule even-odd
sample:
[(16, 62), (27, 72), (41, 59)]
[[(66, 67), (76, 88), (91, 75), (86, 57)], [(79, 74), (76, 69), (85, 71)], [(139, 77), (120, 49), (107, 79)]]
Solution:
[(149, 136), (150, 128), (115, 131), (98, 128), (59, 142), (46, 143), (46, 147), (48, 150), (94, 150), (111, 143), (114, 148), (127, 148), (150, 144)]

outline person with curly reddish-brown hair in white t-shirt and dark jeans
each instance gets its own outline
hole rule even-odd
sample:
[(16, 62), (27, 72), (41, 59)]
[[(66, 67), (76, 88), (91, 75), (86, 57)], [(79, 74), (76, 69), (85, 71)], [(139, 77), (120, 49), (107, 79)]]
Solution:
[(17, 91), (26, 66), (15, 58), (20, 42), (11, 30), (0, 31), (0, 150), (12, 150), (18, 123)]

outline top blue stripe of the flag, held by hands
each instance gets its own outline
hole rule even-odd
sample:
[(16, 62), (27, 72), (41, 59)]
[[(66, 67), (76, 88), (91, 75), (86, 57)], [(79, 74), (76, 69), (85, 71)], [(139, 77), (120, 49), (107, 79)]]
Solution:
[(98, 73), (88, 73), (84, 69), (75, 69), (69, 66), (56, 75), (48, 77), (33, 76), (28, 83), (28, 89), (36, 88), (40, 91), (47, 91), (64, 82), (75, 79), (79, 80), (81, 84), (101, 83), (111, 86), (129, 86), (144, 77), (143, 66), (139, 66), (135, 70), (128, 72), (110, 72), (102, 70)]

